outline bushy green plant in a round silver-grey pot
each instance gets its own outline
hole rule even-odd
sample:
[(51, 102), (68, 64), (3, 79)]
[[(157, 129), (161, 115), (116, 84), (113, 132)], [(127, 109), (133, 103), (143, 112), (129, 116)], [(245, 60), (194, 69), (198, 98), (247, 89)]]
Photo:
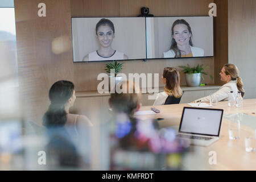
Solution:
[[(200, 86), (201, 78), (204, 80), (203, 75), (208, 75), (208, 73), (205, 72), (205, 69), (208, 68), (208, 65), (203, 67), (203, 64), (201, 65), (197, 64), (196, 67), (190, 67), (188, 64), (188, 66), (179, 66), (179, 67), (183, 68), (182, 72), (185, 73), (186, 82), (188, 86)], [(209, 76), (213, 80), (213, 76), (210, 74)]]

